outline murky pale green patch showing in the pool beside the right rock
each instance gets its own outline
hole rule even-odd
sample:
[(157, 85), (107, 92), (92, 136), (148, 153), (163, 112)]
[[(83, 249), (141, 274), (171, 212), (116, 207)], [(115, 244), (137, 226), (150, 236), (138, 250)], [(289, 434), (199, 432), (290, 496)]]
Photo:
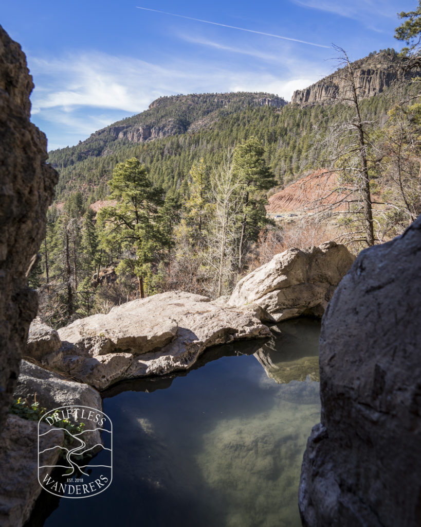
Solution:
[(318, 391), (313, 404), (277, 400), (268, 412), (221, 421), (204, 436), (197, 463), (207, 484), (229, 504), (227, 527), (301, 525), (299, 471), (309, 423), (319, 417)]

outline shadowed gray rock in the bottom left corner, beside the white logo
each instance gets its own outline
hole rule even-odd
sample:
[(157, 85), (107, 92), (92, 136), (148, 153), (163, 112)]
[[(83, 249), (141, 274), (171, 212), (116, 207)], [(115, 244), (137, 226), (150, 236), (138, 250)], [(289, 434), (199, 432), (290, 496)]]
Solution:
[[(48, 430), (41, 424), (40, 432)], [(9, 414), (0, 437), (0, 525), (2, 527), (22, 527), (29, 518), (34, 503), (41, 493), (38, 483), (38, 422), (26, 421), (17, 415)], [(39, 451), (53, 446), (63, 446), (62, 430), (39, 437)], [(55, 465), (59, 449), (46, 451), (45, 465)], [(40, 477), (51, 472), (43, 469)]]

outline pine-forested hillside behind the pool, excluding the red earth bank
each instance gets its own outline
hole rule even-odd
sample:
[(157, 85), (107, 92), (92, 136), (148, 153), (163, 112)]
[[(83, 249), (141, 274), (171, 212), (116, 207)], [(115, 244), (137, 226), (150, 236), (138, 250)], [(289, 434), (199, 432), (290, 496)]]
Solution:
[[(388, 71), (394, 61), (398, 67), (393, 50), (382, 54)], [(329, 237), (357, 251), (402, 232), (421, 212), (418, 81), (401, 76), (367, 97), (358, 85), (364, 64), (345, 70), (354, 99), (161, 97), (50, 152), (60, 179), (31, 275), (42, 316), (61, 326), (172, 289), (215, 298), (287, 246)], [(329, 207), (275, 225), (266, 217), (268, 194), (313, 169), (335, 174)], [(91, 207), (98, 200), (101, 207)]]

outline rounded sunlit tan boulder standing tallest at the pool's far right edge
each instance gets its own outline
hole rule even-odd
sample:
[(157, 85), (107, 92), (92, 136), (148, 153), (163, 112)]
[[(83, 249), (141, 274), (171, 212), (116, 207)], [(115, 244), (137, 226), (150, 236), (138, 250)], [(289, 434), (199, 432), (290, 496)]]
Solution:
[(353, 261), (348, 249), (334, 241), (305, 251), (288, 249), (240, 280), (228, 303), (239, 307), (255, 302), (276, 321), (321, 317)]

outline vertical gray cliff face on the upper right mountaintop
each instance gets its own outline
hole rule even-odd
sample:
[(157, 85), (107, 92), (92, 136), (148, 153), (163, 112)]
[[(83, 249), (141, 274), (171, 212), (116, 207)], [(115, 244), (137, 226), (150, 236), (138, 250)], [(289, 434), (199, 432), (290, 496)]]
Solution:
[[(358, 94), (370, 97), (382, 93), (396, 79), (397, 59), (385, 52), (362, 58), (352, 63), (356, 72)], [(312, 84), (305, 90), (296, 90), (291, 103), (300, 105), (327, 104), (339, 97), (350, 96), (347, 69), (342, 68), (332, 75)]]

